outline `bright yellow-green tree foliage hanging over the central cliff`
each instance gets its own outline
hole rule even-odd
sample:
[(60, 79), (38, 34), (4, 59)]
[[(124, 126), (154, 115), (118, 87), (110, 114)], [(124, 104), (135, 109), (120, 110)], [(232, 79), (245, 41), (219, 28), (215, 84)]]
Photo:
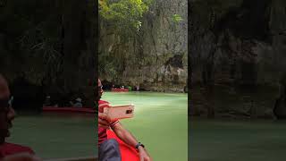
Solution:
[(109, 75), (113, 78), (124, 69), (124, 59), (127, 54), (120, 47), (130, 39), (139, 38), (142, 18), (147, 13), (151, 0), (98, 0), (99, 21), (105, 27), (113, 30), (117, 37), (114, 43), (114, 51), (117, 55), (109, 53), (99, 53), (99, 73), (100, 75)]

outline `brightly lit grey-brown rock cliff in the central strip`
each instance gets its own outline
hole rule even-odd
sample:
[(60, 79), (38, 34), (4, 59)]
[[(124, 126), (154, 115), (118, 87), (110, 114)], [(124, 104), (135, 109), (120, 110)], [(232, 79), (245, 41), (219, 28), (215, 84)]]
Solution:
[[(154, 91), (183, 92), (188, 78), (188, 2), (157, 0), (144, 15), (137, 36), (122, 42), (112, 24), (101, 21), (99, 56), (118, 60), (113, 73), (100, 73), (103, 80)], [(172, 20), (174, 14), (182, 21)], [(101, 61), (99, 64), (108, 64)]]

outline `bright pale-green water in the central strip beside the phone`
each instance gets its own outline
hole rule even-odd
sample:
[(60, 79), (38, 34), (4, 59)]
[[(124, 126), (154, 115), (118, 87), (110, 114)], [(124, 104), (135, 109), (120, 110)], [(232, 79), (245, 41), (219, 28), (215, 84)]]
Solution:
[(186, 94), (105, 92), (112, 105), (135, 104), (135, 117), (122, 124), (144, 143), (154, 160), (188, 159)]

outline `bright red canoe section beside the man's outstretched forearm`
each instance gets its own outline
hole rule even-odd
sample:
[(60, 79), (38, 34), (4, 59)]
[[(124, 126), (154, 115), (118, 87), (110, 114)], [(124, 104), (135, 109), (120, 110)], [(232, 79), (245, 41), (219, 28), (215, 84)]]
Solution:
[(122, 140), (117, 138), (114, 134), (114, 131), (107, 130), (107, 138), (115, 139), (119, 143), (120, 151), (122, 154), (122, 161), (139, 161), (139, 153), (136, 148), (132, 148), (129, 145), (125, 144)]

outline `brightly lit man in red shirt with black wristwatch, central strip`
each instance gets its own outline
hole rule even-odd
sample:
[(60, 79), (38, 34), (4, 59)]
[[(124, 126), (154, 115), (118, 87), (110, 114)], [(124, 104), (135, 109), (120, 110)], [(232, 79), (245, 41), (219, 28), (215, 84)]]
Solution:
[(109, 123), (103, 114), (103, 108), (108, 107), (107, 101), (101, 100), (104, 90), (102, 89), (101, 81), (98, 79), (98, 157), (99, 161), (120, 161), (121, 152), (117, 140), (107, 139), (107, 130), (111, 128), (114, 134), (130, 147), (136, 148), (139, 152), (140, 161), (150, 161), (151, 157), (148, 155), (146, 148), (136, 138), (127, 131), (119, 120)]

